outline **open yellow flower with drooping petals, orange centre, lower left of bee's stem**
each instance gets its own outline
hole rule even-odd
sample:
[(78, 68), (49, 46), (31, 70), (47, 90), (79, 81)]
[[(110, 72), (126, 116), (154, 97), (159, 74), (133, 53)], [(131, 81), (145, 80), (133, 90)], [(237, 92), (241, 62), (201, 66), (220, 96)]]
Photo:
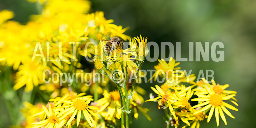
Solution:
[[(85, 100), (83, 98), (76, 98), (74, 101), (63, 101), (64, 103), (67, 103), (68, 106), (65, 106), (67, 108), (59, 114), (59, 116), (62, 115), (60, 120), (66, 118), (66, 116), (68, 116), (69, 114), (72, 114), (72, 116), (70, 117), (70, 119), (68, 120), (68, 122), (66, 124), (66, 126), (69, 126), (70, 123), (72, 122), (72, 120), (77, 115), (76, 125), (79, 126), (79, 122), (81, 120), (81, 112), (83, 112), (83, 115), (85, 116), (85, 119), (87, 120), (89, 125), (91, 127), (96, 126), (96, 124), (90, 114), (92, 114), (94, 117), (99, 119), (99, 117), (92, 111), (92, 110), (97, 110), (99, 108), (95, 107), (95, 106), (89, 106), (89, 103), (91, 100), (93, 100), (93, 99)], [(92, 109), (92, 110), (90, 110), (90, 109)], [(92, 123), (93, 123), (93, 125), (92, 125)]]

